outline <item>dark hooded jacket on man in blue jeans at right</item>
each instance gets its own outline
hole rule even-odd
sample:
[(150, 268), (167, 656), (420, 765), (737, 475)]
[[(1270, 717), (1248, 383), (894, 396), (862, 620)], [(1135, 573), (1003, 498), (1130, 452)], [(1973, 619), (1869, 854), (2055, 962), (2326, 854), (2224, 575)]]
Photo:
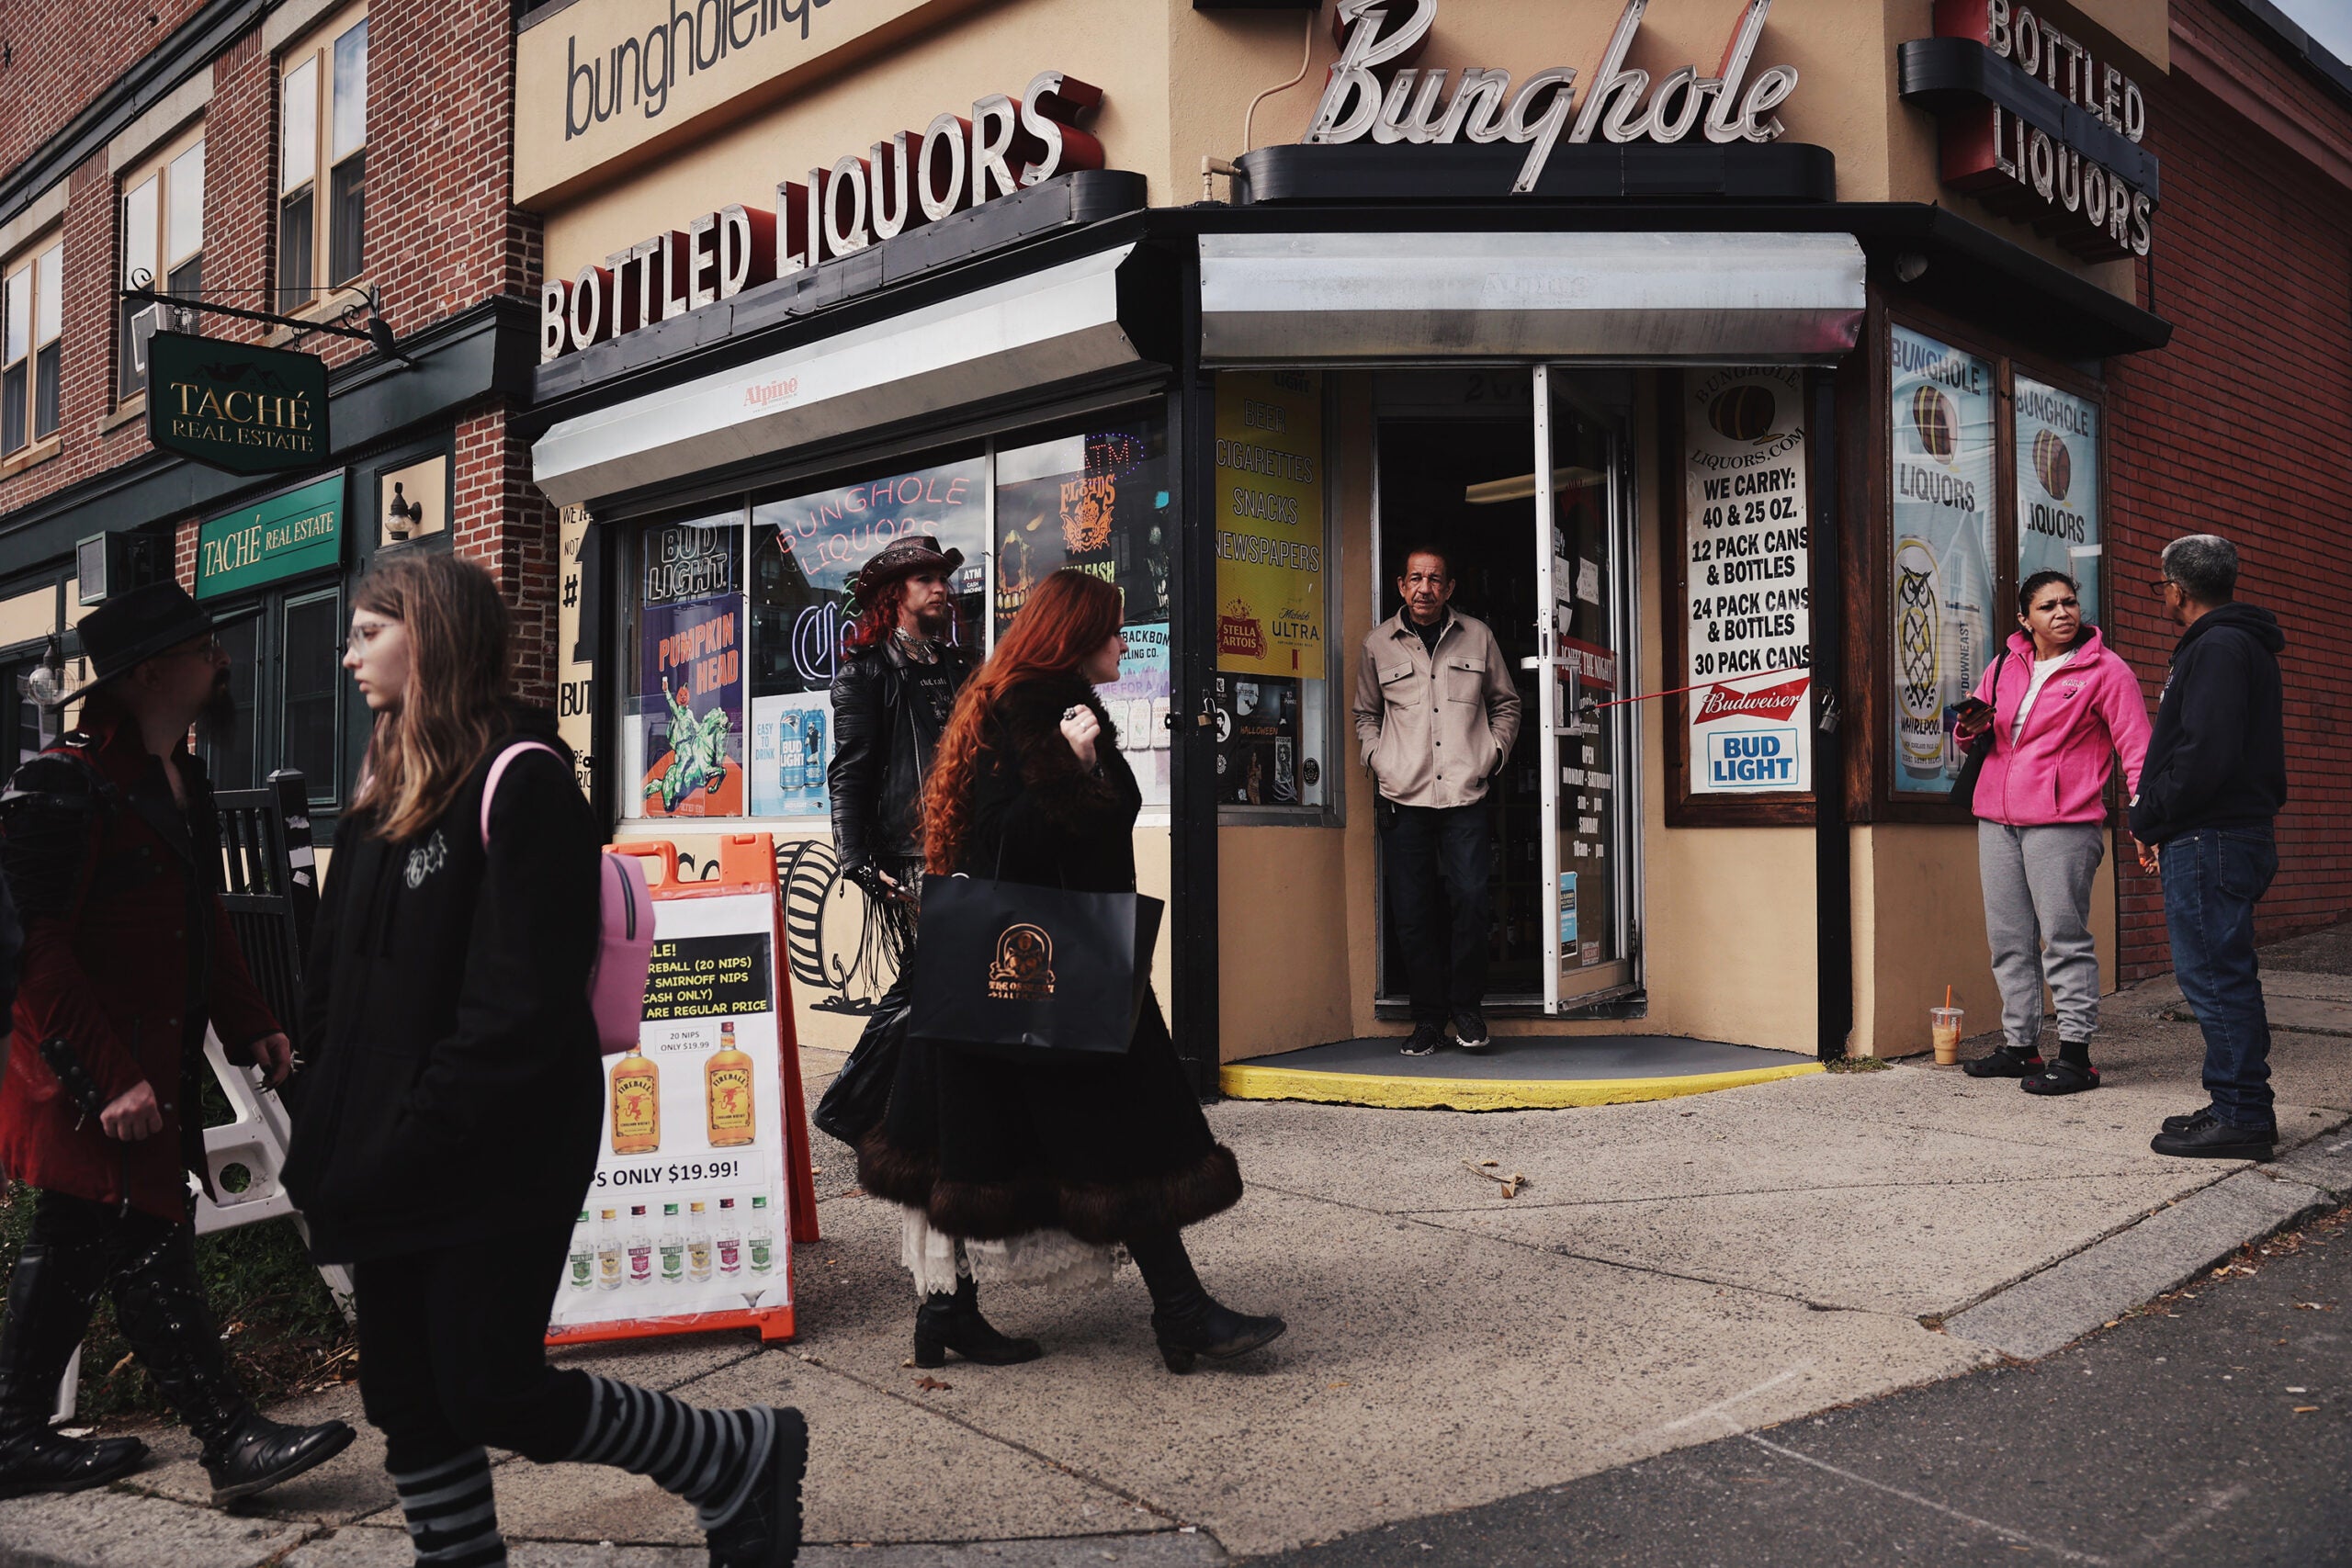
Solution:
[(2279, 618), (2218, 604), (2173, 646), (2157, 729), (2140, 764), (2131, 832), (2164, 844), (2199, 827), (2270, 827), (2286, 804)]

